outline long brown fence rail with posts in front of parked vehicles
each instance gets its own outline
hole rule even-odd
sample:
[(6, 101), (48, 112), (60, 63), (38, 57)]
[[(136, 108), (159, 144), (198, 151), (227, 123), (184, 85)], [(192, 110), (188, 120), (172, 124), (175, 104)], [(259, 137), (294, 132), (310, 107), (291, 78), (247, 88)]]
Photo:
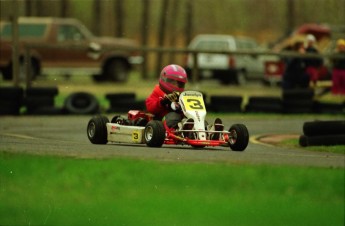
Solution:
[[(56, 44), (27, 44), (25, 46), (25, 65), (26, 65), (26, 85), (27, 87), (31, 86), (31, 64), (29, 63), (30, 59), (30, 50), (31, 49), (39, 49), (39, 48), (52, 48), (52, 49), (80, 49), (84, 51), (93, 51), (88, 47), (80, 46), (80, 45), (56, 45)], [(275, 56), (279, 58), (292, 58), (292, 57), (299, 57), (299, 58), (323, 58), (323, 59), (335, 59), (335, 58), (344, 58), (344, 56), (339, 56), (335, 54), (314, 54), (314, 53), (305, 53), (300, 54), (293, 51), (282, 51), (282, 52), (275, 52), (275, 51), (216, 51), (216, 50), (192, 50), (188, 48), (166, 48), (166, 47), (117, 47), (117, 48), (102, 48), (99, 52), (102, 51), (136, 51), (136, 52), (160, 52), (160, 53), (175, 53), (175, 54), (191, 54), (193, 57), (193, 64), (192, 69), (192, 82), (197, 82), (198, 78), (198, 54), (200, 53), (209, 53), (209, 54), (226, 54), (226, 55), (250, 55), (253, 57), (257, 56)], [(145, 63), (145, 59), (144, 59)]]

